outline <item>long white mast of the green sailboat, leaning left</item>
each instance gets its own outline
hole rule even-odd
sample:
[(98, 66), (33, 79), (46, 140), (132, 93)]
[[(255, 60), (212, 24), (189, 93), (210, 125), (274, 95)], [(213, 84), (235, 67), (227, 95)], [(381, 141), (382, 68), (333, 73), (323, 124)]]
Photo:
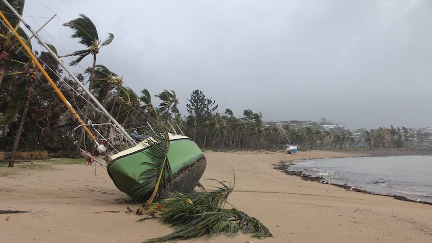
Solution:
[[(136, 145), (136, 141), (129, 135), (129, 133), (123, 128), (120, 123), (114, 119), (114, 117), (103, 107), (103, 105), (96, 99), (96, 97), (93, 96), (93, 94), (77, 79), (77, 77), (69, 70), (68, 67), (60, 60), (60, 58), (51, 50), (50, 47), (42, 40), (42, 38), (39, 37), (38, 33), (36, 33), (24, 19), (18, 14), (18, 12), (8, 3), (7, 0), (2, 0), (3, 3), (5, 3), (6, 6), (17, 16), (18, 19), (26, 26), (26, 28), (32, 32), (32, 34), (35, 36), (36, 39), (42, 44), (42, 46), (47, 49), (47, 51), (53, 56), (54, 59), (66, 70), (66, 72), (72, 77), (72, 79), (89, 95), (91, 100), (99, 107), (99, 109), (110, 119), (112, 123), (126, 136), (126, 138), (131, 142), (132, 144)], [(3, 13), (2, 13), (3, 15)], [(18, 38), (18, 37), (17, 37)], [(21, 38), (19, 38), (21, 39)], [(24, 46), (25, 44), (23, 44)], [(69, 103), (69, 102), (68, 102)], [(69, 104), (70, 105), (70, 104)], [(84, 126), (85, 127), (85, 126)]]

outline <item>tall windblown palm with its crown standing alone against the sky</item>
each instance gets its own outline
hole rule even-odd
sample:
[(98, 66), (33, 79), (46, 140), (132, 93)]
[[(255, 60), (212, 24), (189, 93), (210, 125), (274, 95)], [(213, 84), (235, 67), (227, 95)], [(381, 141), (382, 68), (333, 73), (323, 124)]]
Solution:
[[(79, 43), (87, 47), (87, 49), (75, 51), (72, 54), (64, 56), (64, 57), (69, 57), (69, 56), (77, 57), (74, 61), (70, 63), (71, 66), (78, 65), (85, 57), (87, 57), (90, 54), (93, 55), (93, 65), (92, 65), (90, 79), (89, 79), (89, 91), (91, 92), (93, 88), (93, 79), (95, 76), (96, 60), (97, 60), (97, 54), (99, 53), (99, 49), (109, 45), (113, 41), (114, 35), (108, 33), (109, 34), (108, 38), (101, 44), (96, 26), (87, 16), (83, 14), (80, 14), (80, 18), (65, 23), (63, 24), (63, 26), (71, 28), (74, 31), (74, 34), (72, 34), (71, 37), (78, 38), (80, 40)], [(87, 99), (90, 100), (90, 97), (88, 96)], [(84, 117), (88, 116), (89, 109), (90, 109), (90, 105), (86, 105)], [(84, 138), (84, 129), (81, 130), (79, 144), (81, 144), (83, 138)]]

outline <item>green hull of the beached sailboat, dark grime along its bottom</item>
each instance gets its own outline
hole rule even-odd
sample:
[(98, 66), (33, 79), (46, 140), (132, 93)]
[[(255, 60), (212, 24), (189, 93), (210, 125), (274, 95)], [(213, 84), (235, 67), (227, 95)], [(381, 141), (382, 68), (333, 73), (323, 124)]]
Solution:
[[(107, 166), (108, 174), (117, 188), (133, 198), (133, 187), (139, 174), (151, 168), (142, 164), (152, 159), (144, 152), (145, 146), (132, 148), (121, 152)], [(168, 161), (171, 166), (171, 183), (167, 190), (189, 192), (198, 183), (206, 167), (206, 159), (201, 149), (190, 139), (171, 140), (168, 150)]]

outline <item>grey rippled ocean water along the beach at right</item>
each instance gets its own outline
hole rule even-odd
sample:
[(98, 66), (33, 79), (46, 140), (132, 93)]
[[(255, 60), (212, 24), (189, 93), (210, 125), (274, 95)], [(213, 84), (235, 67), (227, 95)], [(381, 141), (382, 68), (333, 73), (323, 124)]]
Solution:
[(432, 156), (303, 160), (290, 170), (373, 193), (432, 202)]

